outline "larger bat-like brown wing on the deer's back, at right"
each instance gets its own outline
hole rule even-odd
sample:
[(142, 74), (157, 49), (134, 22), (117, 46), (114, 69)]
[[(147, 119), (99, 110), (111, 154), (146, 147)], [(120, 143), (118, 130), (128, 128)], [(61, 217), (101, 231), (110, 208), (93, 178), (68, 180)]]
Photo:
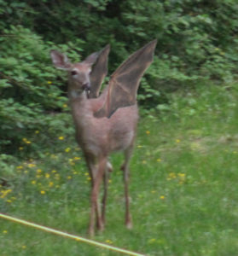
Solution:
[(136, 104), (136, 93), (143, 73), (153, 61), (157, 40), (138, 49), (113, 73), (109, 81), (107, 99), (95, 113), (98, 118), (110, 118), (118, 109)]

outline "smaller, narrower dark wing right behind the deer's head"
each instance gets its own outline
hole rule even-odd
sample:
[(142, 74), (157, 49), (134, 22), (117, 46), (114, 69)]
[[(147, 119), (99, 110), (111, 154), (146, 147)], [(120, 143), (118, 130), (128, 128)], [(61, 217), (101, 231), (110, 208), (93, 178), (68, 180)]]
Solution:
[(99, 95), (103, 79), (107, 76), (107, 57), (110, 51), (110, 45), (101, 50), (96, 60), (95, 65), (92, 67), (90, 73), (90, 98), (96, 98)]

